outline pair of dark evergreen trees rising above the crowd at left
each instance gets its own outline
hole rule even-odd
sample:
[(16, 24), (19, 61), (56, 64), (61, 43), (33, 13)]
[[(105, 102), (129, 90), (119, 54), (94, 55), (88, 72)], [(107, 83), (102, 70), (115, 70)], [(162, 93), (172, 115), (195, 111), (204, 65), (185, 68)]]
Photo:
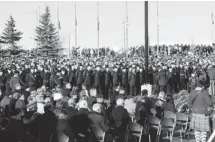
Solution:
[[(36, 36), (34, 40), (37, 42), (37, 48), (34, 49), (37, 54), (57, 56), (62, 50), (59, 38), (59, 31), (51, 21), (50, 9), (47, 6), (45, 12), (41, 15), (39, 26), (36, 27)], [(6, 51), (23, 50), (18, 42), (22, 39), (23, 32), (16, 29), (16, 22), (12, 15), (5, 24), (5, 28), (0, 36), (0, 49), (6, 46)], [(19, 53), (19, 52), (17, 52)]]

